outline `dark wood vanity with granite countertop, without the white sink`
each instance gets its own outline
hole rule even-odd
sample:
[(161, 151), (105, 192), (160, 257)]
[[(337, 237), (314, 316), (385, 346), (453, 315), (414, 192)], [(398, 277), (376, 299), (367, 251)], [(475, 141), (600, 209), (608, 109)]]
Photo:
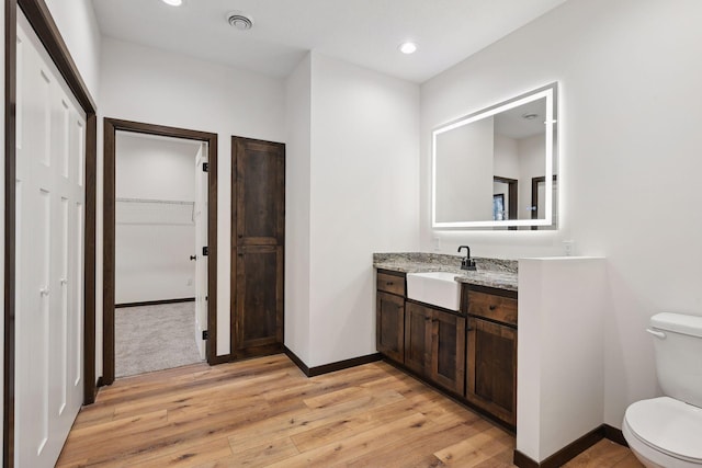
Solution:
[[(512, 430), (517, 421), (516, 262), (454, 255), (376, 254), (376, 343), (388, 361)], [(448, 272), (456, 310), (410, 298), (407, 274)]]

